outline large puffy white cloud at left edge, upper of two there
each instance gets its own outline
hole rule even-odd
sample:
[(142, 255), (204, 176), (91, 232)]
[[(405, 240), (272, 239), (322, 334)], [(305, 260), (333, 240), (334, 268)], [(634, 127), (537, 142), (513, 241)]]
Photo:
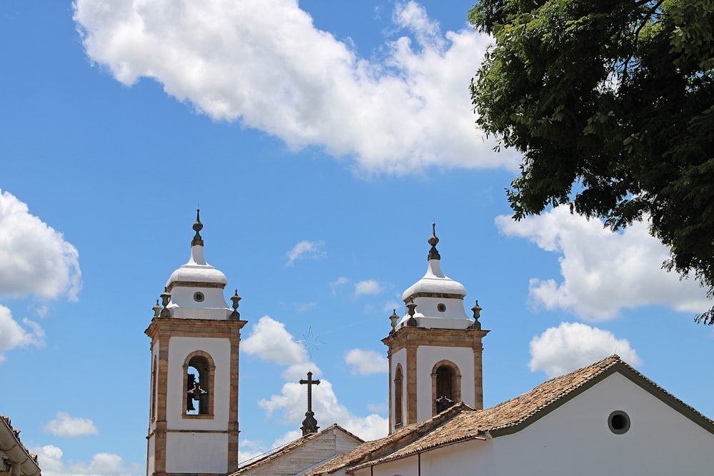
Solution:
[(0, 263), (0, 295), (77, 300), (82, 287), (76, 248), (7, 191), (0, 193)]

